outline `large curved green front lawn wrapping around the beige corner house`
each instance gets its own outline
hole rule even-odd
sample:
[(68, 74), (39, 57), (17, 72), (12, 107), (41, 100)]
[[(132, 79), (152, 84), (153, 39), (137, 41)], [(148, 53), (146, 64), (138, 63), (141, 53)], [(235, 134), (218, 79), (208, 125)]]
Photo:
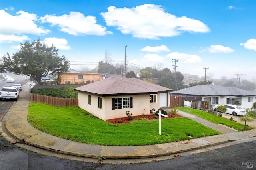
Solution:
[(221, 134), (184, 117), (163, 119), (162, 135), (159, 135), (158, 120), (142, 119), (113, 125), (79, 107), (56, 107), (43, 103), (29, 104), (28, 122), (38, 130), (60, 138), (108, 146), (160, 144), (191, 139), (189, 136), (199, 138)]

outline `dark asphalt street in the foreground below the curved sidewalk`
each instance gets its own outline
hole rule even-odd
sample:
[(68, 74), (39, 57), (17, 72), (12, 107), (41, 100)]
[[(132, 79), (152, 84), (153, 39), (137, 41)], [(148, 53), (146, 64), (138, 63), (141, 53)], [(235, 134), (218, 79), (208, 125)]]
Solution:
[[(256, 140), (199, 154), (181, 153), (163, 161), (134, 164), (84, 162), (46, 156), (20, 148), (0, 136), (1, 170), (250, 170), (256, 169)], [(197, 151), (194, 151), (195, 153)], [(189, 155), (190, 154), (190, 155)], [(187, 155), (187, 156), (186, 156)]]

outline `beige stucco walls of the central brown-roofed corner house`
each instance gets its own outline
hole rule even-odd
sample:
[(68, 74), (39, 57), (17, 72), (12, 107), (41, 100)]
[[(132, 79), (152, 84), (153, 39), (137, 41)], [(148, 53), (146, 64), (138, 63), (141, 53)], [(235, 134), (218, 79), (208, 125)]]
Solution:
[[(97, 95), (91, 95), (91, 105), (88, 105), (88, 94), (78, 92), (78, 105), (80, 108), (88, 111), (92, 115), (97, 116), (102, 120), (115, 119), (120, 117), (126, 117), (126, 111), (130, 111), (133, 116), (137, 115), (148, 115), (150, 109), (159, 109), (159, 93), (157, 94), (157, 103), (150, 103), (150, 95), (124, 95), (124, 96), (110, 96), (102, 97), (102, 109), (98, 108), (98, 97)], [(121, 97), (132, 97), (133, 107), (124, 109), (112, 110), (112, 98)], [(144, 110), (145, 109), (145, 110)]]

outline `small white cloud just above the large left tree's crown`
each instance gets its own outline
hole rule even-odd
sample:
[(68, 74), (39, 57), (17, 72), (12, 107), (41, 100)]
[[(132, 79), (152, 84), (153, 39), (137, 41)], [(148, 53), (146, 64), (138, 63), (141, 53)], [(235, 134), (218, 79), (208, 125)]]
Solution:
[(68, 41), (65, 38), (50, 37), (50, 38), (45, 38), (44, 42), (48, 47), (51, 47), (53, 44), (58, 49), (62, 49), (62, 50), (70, 49), (70, 46), (67, 45)]

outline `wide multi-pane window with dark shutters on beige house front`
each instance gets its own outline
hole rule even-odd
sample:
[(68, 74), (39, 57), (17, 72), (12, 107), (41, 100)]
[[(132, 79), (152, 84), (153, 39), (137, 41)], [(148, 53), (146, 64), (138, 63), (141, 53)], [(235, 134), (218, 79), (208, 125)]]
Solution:
[(112, 110), (132, 108), (132, 97), (112, 98)]

